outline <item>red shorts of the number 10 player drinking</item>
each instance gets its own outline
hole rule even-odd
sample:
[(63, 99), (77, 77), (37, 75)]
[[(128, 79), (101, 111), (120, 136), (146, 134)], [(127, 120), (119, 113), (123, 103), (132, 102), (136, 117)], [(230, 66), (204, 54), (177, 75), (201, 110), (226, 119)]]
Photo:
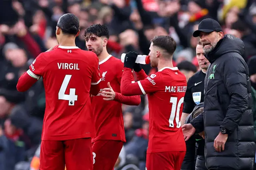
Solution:
[(147, 153), (146, 170), (180, 170), (186, 152)]

